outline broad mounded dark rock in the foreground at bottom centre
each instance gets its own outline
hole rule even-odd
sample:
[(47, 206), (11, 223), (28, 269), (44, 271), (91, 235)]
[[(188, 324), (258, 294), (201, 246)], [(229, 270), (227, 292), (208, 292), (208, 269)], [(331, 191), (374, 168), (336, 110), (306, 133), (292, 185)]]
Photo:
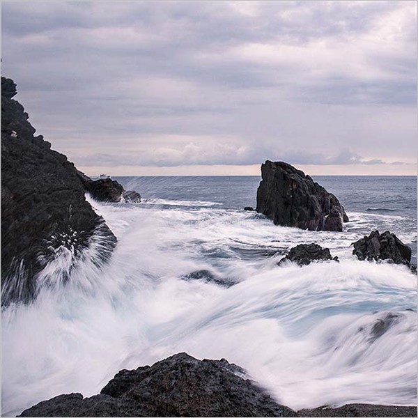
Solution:
[[(99, 413), (100, 411), (100, 413)], [(94, 415), (93, 415), (94, 414)], [(122, 370), (100, 395), (61, 395), (21, 417), (296, 417), (245, 371), (225, 359), (173, 355), (136, 370)]]

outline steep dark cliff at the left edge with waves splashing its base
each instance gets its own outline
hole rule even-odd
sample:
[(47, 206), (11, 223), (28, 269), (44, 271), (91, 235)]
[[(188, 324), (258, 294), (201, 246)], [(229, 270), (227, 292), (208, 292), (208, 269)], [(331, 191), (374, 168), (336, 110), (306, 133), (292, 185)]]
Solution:
[(100, 264), (116, 245), (84, 199), (74, 164), (33, 136), (15, 94), (13, 81), (1, 77), (1, 304), (31, 300), (36, 274), (63, 249), (77, 258), (101, 236)]

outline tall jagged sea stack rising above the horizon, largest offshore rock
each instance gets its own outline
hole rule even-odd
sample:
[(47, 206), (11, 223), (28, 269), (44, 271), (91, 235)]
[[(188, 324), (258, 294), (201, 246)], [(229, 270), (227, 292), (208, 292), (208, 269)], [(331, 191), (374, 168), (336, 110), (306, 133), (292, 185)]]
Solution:
[(257, 212), (274, 224), (310, 231), (342, 231), (346, 212), (334, 194), (328, 193), (303, 171), (286, 162), (261, 165)]

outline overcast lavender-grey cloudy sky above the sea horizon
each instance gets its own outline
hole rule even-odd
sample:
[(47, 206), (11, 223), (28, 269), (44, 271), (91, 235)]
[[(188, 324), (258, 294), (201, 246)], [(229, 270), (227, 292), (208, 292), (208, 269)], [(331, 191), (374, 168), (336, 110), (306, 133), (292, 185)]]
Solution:
[(1, 1), (1, 41), (92, 176), (417, 173), (416, 1)]

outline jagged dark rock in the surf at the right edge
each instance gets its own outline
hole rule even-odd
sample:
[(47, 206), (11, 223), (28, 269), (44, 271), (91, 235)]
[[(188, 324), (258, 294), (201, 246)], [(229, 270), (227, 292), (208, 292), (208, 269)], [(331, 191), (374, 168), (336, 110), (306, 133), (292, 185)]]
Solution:
[(412, 254), (410, 247), (389, 231), (381, 235), (379, 231), (372, 231), (369, 236), (364, 235), (364, 238), (353, 242), (353, 245), (353, 254), (359, 260), (387, 260), (389, 263), (408, 265), (412, 270), (414, 268), (410, 263)]

